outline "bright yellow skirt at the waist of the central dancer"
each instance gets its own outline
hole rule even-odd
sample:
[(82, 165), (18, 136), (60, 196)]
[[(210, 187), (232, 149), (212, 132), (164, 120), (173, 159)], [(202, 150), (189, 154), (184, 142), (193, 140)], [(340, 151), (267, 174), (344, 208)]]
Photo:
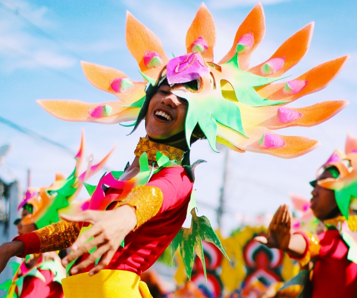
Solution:
[(136, 273), (123, 270), (101, 270), (90, 276), (81, 273), (62, 280), (65, 298), (132, 297), (152, 298), (148, 286)]

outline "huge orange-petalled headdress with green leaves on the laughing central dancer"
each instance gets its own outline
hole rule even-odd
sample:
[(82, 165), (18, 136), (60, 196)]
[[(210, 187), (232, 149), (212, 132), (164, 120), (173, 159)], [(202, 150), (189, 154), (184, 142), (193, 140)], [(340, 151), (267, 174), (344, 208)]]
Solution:
[[(325, 101), (302, 108), (288, 108), (305, 95), (327, 86), (339, 73), (348, 56), (315, 66), (295, 79), (281, 83), (282, 75), (305, 55), (311, 41), (313, 23), (286, 40), (263, 63), (250, 67), (250, 57), (265, 33), (264, 12), (257, 4), (236, 32), (231, 49), (218, 63), (213, 62), (215, 28), (204, 4), (187, 31), (187, 54), (169, 60), (160, 40), (129, 12), (126, 43), (145, 82), (135, 82), (113, 68), (82, 62), (87, 79), (98, 89), (120, 101), (89, 104), (81, 101), (42, 100), (38, 103), (50, 114), (67, 121), (120, 123), (145, 116), (146, 90), (151, 90), (167, 73), (169, 84), (199, 82), (198, 90), (180, 87), (172, 92), (188, 105), (186, 139), (198, 124), (216, 151), (220, 142), (238, 152), (266, 153), (292, 158), (313, 150), (318, 141), (299, 136), (282, 136), (275, 129), (319, 124), (347, 105), (346, 101)], [(144, 115), (143, 115), (144, 114)], [(139, 117), (138, 117), (139, 116)]]

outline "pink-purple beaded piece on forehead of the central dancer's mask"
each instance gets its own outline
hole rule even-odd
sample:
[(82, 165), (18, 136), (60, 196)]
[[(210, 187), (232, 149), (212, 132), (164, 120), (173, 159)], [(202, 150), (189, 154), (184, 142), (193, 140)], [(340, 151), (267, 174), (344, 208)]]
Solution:
[(170, 85), (190, 82), (208, 73), (206, 62), (199, 52), (175, 57), (167, 64), (167, 81)]

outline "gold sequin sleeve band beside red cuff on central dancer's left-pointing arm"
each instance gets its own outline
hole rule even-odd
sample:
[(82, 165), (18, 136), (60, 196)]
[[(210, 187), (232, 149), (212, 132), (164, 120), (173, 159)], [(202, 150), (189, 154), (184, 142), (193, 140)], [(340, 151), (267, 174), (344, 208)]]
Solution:
[(80, 234), (78, 222), (60, 221), (34, 231), (41, 241), (40, 252), (70, 247)]

